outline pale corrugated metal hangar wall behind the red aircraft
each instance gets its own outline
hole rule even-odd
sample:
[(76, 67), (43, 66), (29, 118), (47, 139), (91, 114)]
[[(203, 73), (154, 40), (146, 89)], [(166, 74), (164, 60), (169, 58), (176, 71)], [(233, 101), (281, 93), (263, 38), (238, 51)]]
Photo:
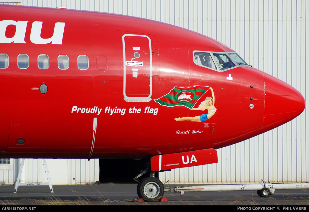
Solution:
[[(309, 99), (308, 0), (24, 0), (7, 4), (66, 7), (125, 14), (166, 22), (214, 38), (234, 49), (248, 63), (298, 89)], [(5, 4), (6, 4), (5, 3)], [(308, 68), (307, 68), (308, 69)], [(278, 107), (293, 107), (291, 102)], [(160, 173), (171, 183), (309, 182), (308, 107), (296, 119), (238, 144), (218, 149), (217, 164)], [(235, 124), (238, 121), (235, 120)], [(254, 120), (252, 120), (254, 121)], [(18, 162), (2, 165), (0, 177), (14, 183)], [(92, 161), (92, 162), (91, 162)], [(53, 184), (98, 180), (98, 160), (47, 160)], [(25, 180), (39, 181), (38, 160), (29, 159)], [(61, 168), (63, 166), (63, 170)], [(39, 167), (39, 169), (37, 169)], [(57, 173), (61, 168), (61, 174)], [(7, 169), (15, 170), (13, 175)], [(53, 171), (55, 170), (55, 171)], [(57, 171), (58, 170), (58, 171)], [(45, 178), (40, 171), (40, 176)], [(79, 180), (72, 180), (76, 174)], [(43, 175), (43, 176), (41, 176)], [(58, 177), (62, 179), (56, 179)], [(54, 177), (54, 179), (53, 179)], [(0, 181), (2, 179), (0, 178)], [(82, 179), (83, 178), (83, 179)]]

